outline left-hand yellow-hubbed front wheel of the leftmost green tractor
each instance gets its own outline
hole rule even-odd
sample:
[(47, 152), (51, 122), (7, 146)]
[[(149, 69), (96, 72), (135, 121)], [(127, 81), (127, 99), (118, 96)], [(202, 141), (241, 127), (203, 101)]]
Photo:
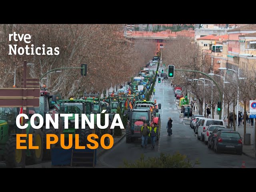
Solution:
[(5, 145), (4, 160), (8, 168), (22, 167), (24, 165), (24, 158), (22, 157), (22, 150), (16, 149), (16, 137), (10, 137)]

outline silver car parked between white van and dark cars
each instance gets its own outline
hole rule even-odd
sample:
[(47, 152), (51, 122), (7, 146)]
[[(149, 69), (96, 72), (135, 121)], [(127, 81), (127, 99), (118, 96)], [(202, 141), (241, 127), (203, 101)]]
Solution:
[(204, 141), (204, 135), (203, 132), (206, 132), (209, 125), (224, 125), (224, 120), (219, 119), (210, 119), (205, 118), (202, 120), (201, 124), (198, 126), (198, 133), (197, 133), (197, 139), (201, 141)]

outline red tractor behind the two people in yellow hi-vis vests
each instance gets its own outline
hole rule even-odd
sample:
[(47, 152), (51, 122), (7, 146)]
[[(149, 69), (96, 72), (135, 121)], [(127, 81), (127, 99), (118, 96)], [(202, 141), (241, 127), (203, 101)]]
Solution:
[[(150, 110), (147, 109), (132, 109), (128, 110), (128, 123), (126, 126), (126, 143), (130, 143), (135, 139), (141, 138), (140, 130), (146, 122), (148, 126), (155, 123), (158, 127), (158, 136), (160, 137), (160, 118), (154, 117)], [(150, 138), (148, 138), (150, 142)]]

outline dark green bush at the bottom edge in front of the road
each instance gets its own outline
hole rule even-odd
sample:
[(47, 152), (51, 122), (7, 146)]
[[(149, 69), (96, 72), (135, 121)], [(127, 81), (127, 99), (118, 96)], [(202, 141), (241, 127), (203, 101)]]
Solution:
[(174, 155), (161, 153), (160, 157), (150, 157), (144, 159), (144, 154), (135, 163), (124, 161), (124, 168), (193, 168), (194, 165), (200, 164), (198, 160), (193, 164), (186, 155), (176, 152)]

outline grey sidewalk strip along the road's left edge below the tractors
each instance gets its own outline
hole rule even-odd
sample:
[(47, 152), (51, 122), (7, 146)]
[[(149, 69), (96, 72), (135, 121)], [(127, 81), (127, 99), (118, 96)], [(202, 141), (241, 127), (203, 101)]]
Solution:
[[(122, 130), (122, 136), (118, 137), (118, 138), (114, 138), (114, 146), (116, 144), (118, 144), (123, 138), (125, 138), (125, 129)], [(114, 147), (113, 146), (113, 147)], [(102, 154), (104, 154), (105, 152), (107, 152), (107, 150), (103, 149), (100, 144), (99, 147), (97, 149), (97, 158), (99, 158)], [(97, 165), (97, 162), (96, 162)], [(70, 166), (52, 166), (52, 162), (43, 162), (40, 164), (34, 164), (34, 165), (28, 165), (25, 166), (25, 168), (76, 168), (76, 167), (70, 167)], [(90, 167), (79, 167), (79, 168), (90, 168)]]

